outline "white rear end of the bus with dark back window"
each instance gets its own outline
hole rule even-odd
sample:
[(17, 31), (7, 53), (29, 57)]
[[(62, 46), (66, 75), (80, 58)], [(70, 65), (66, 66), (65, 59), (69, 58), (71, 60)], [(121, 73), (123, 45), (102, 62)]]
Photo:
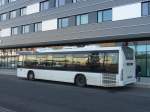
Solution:
[(136, 62), (133, 49), (122, 47), (122, 62), (120, 62), (120, 85), (127, 85), (136, 82)]

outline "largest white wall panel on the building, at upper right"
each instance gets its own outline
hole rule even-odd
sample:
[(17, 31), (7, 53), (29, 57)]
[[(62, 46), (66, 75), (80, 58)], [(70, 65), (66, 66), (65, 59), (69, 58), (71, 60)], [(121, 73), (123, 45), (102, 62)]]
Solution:
[(112, 15), (113, 21), (141, 17), (141, 3), (114, 7)]

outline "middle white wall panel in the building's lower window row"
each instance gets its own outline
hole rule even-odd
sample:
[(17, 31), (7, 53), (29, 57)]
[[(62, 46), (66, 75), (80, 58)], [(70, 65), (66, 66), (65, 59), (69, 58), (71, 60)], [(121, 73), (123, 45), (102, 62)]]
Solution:
[(57, 19), (42, 21), (42, 31), (57, 29)]

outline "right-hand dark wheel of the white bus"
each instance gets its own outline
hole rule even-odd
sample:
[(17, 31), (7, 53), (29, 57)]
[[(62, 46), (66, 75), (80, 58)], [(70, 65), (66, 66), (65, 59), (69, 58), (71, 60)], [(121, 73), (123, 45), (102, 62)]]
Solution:
[(75, 77), (75, 84), (79, 87), (86, 86), (86, 77), (82, 74), (79, 74)]

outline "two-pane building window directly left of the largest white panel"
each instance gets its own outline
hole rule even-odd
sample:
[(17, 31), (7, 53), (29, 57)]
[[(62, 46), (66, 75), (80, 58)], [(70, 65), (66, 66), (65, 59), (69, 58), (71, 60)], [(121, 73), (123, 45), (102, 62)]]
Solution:
[(98, 22), (112, 21), (112, 9), (98, 11)]

